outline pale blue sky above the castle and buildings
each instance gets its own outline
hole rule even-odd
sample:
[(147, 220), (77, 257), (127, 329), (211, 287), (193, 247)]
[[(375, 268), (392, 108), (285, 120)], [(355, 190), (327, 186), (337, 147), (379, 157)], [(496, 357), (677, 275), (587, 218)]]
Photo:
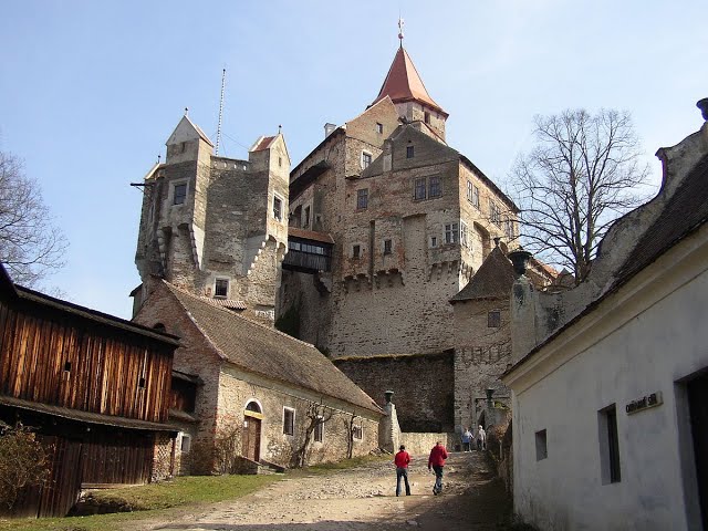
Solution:
[(448, 143), (492, 179), (535, 114), (629, 111), (653, 154), (698, 129), (708, 96), (705, 0), (0, 0), (0, 149), (25, 160), (71, 247), (49, 280), (131, 315), (140, 181), (189, 107), (220, 154), (247, 158), (283, 126), (293, 165), (376, 97), (397, 20)]

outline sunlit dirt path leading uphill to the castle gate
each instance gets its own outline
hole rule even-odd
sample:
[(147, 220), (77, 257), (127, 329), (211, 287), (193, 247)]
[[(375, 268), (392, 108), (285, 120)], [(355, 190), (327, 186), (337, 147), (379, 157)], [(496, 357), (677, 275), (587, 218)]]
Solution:
[(171, 521), (142, 521), (132, 529), (162, 531), (394, 531), (504, 530), (510, 503), (493, 480), (485, 456), (451, 454), (445, 492), (433, 496), (435, 476), (414, 461), (413, 496), (396, 498), (393, 464), (375, 462), (325, 476), (284, 479), (235, 501), (196, 513), (176, 512)]

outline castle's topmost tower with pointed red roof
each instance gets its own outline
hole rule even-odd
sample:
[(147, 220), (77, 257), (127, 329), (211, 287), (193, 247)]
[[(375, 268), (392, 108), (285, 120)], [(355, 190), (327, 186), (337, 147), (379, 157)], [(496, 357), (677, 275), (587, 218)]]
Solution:
[(445, 122), (449, 115), (428, 94), (408, 52), (403, 48), (403, 40), (372, 105), (386, 96), (396, 105), (402, 118), (445, 142)]

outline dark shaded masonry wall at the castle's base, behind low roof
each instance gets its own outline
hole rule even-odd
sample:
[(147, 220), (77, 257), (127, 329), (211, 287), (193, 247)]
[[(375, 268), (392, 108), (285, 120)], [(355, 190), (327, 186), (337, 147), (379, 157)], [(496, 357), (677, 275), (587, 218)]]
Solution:
[(403, 431), (452, 431), (454, 354), (348, 357), (334, 364), (364, 392), (384, 403), (394, 392)]

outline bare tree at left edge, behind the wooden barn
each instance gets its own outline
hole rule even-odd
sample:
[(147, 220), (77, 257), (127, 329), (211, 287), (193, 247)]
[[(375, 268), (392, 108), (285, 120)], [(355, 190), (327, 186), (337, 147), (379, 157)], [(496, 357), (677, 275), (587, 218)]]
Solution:
[(35, 285), (64, 266), (66, 247), (39, 184), (24, 175), (20, 159), (0, 152), (0, 261), (12, 280)]

